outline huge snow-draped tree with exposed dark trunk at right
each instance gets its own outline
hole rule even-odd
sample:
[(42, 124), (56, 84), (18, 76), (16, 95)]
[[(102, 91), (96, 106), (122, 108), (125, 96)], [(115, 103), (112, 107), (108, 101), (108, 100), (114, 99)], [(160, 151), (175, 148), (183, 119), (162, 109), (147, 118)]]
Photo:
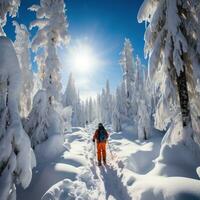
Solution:
[[(160, 93), (156, 109), (160, 129), (172, 119), (178, 109), (176, 104), (183, 127), (191, 126), (189, 98), (195, 95), (200, 77), (198, 7), (198, 0), (146, 0), (138, 13), (139, 22), (148, 22), (145, 54), (149, 55), (149, 75)], [(193, 137), (192, 131), (186, 137)]]

